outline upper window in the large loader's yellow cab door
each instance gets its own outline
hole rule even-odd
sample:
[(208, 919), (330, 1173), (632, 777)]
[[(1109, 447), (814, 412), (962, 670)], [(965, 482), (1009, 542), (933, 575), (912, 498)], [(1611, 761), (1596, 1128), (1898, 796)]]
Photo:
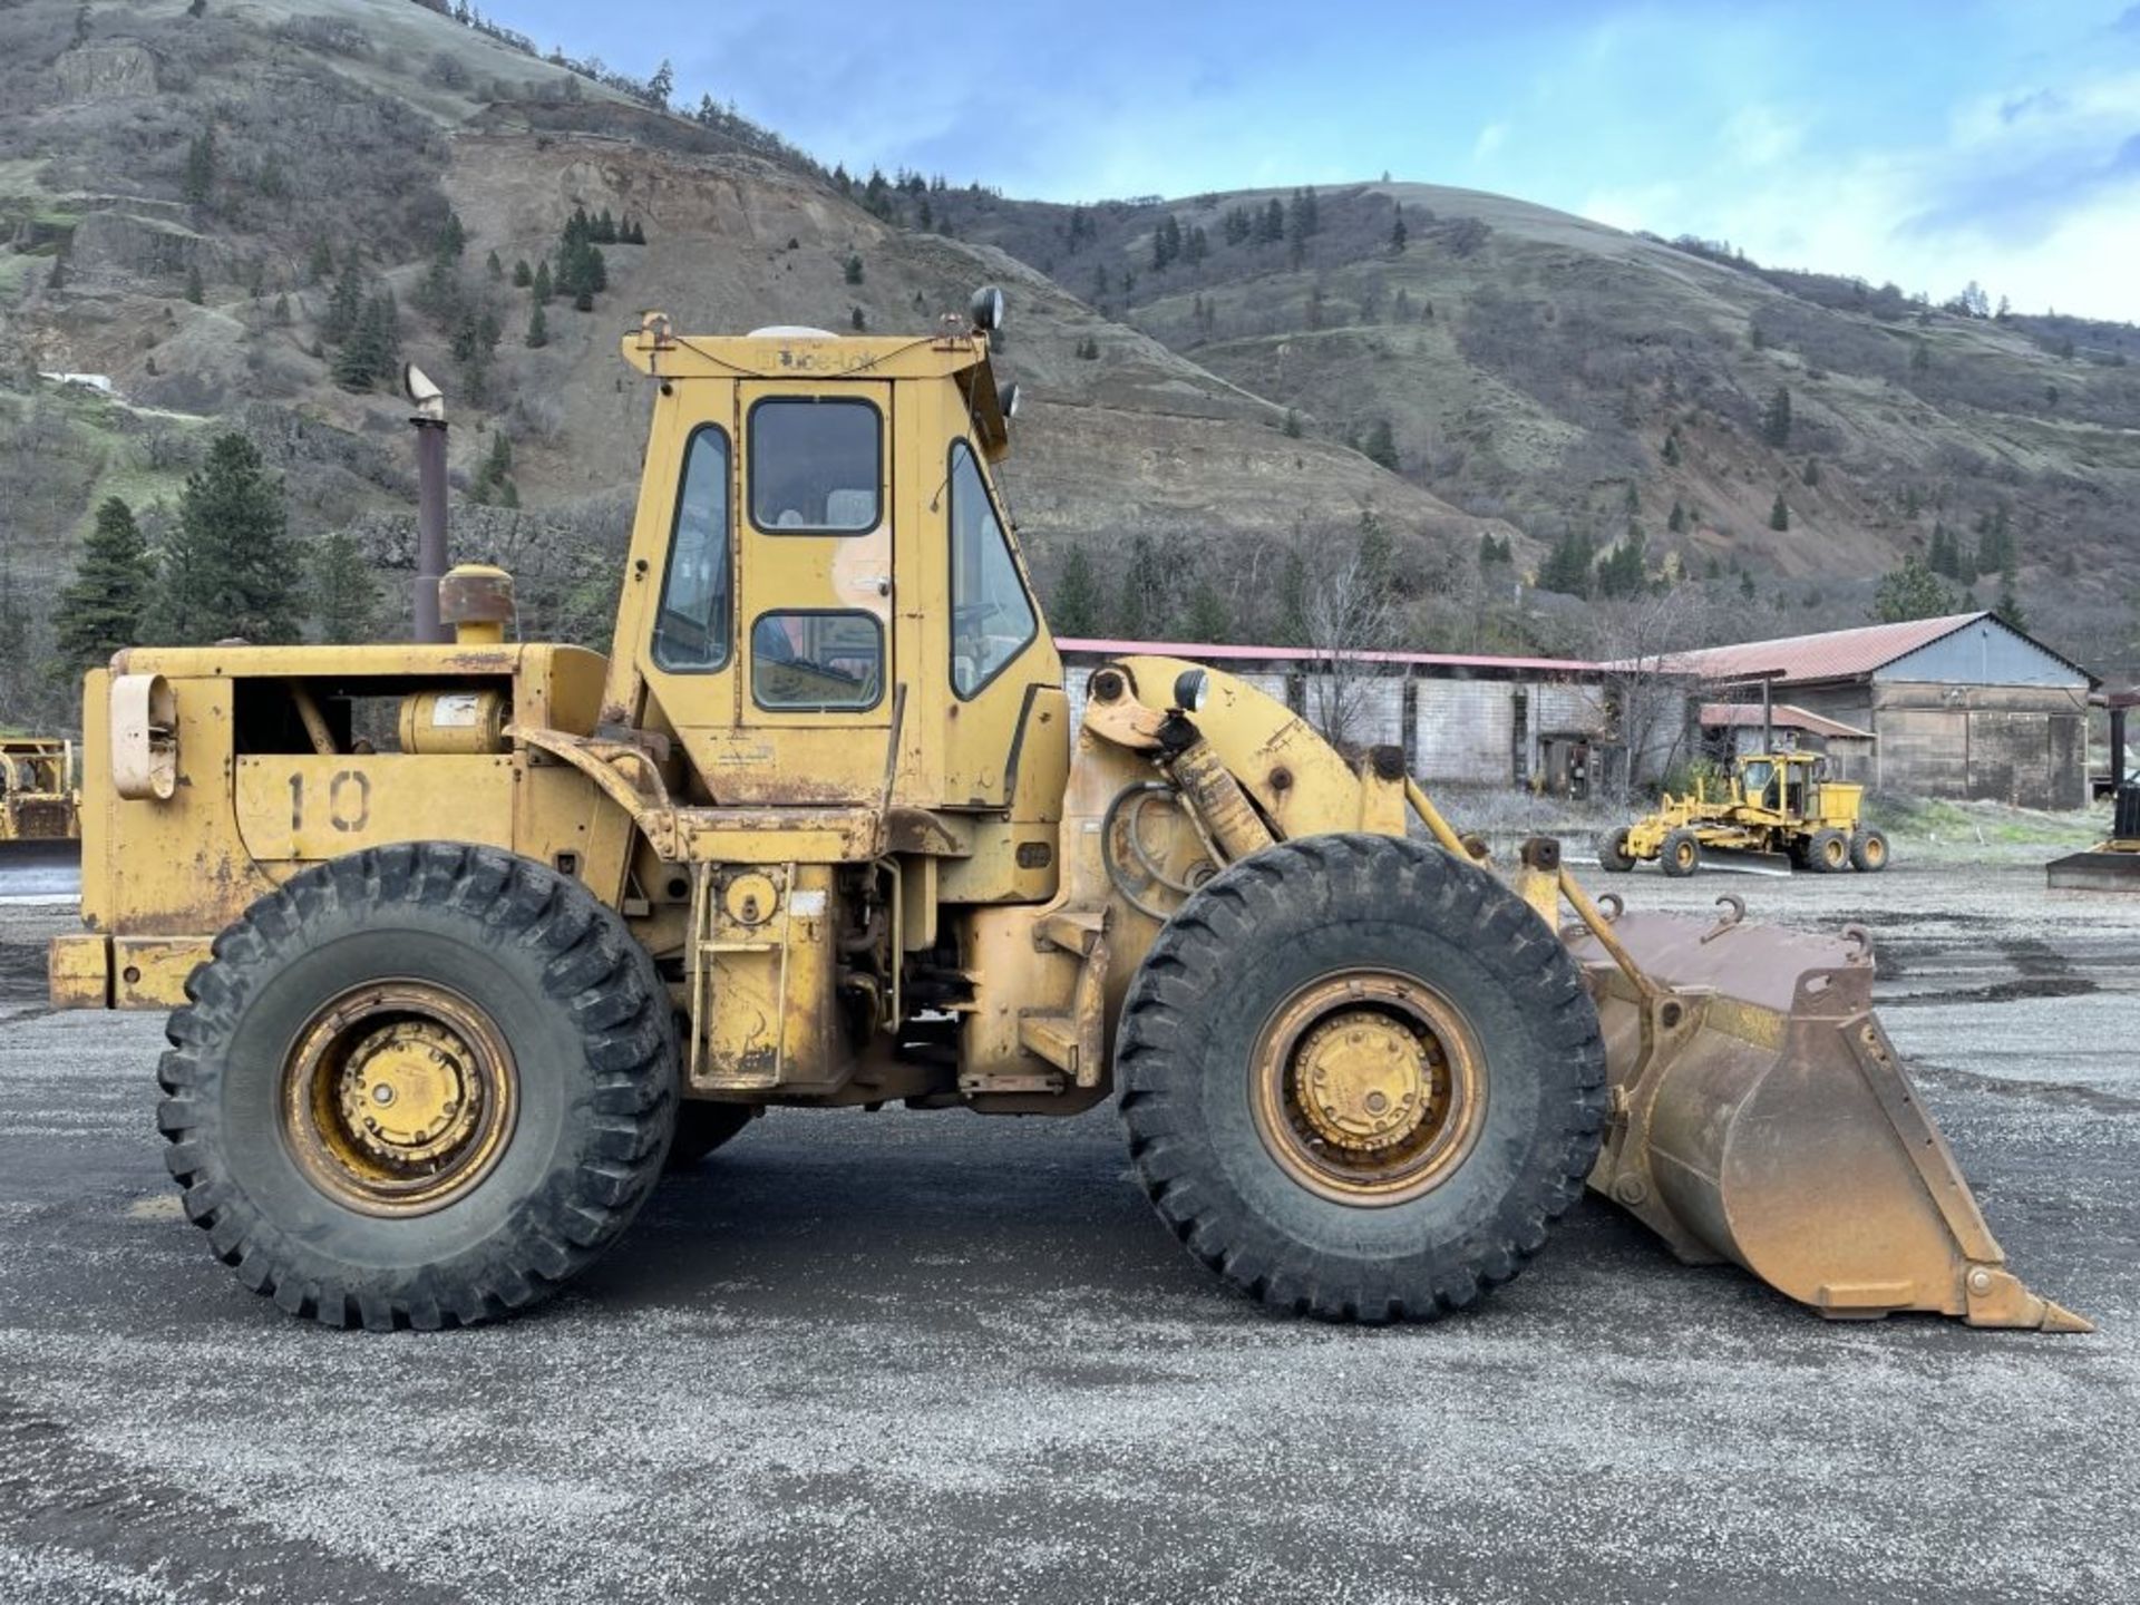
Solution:
[(773, 535), (877, 526), (884, 428), (867, 400), (779, 396), (751, 409), (751, 522)]

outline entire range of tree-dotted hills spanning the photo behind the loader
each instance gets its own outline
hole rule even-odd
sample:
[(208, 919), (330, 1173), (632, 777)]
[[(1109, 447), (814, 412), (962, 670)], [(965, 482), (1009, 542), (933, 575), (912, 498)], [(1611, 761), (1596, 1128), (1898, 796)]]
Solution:
[[(531, 629), (603, 640), (646, 419), (616, 336), (640, 308), (927, 327), (993, 278), (1029, 402), (1004, 477), (1042, 586), (1083, 544), (1113, 593), (1143, 552), (1156, 629), (1275, 636), (1303, 567), (1365, 529), (1389, 537), (1393, 644), (1810, 629), (1862, 621), (1935, 526), (1973, 550), (1997, 522), (2033, 623), (2136, 668), (2134, 330), (1950, 315), (1468, 190), (1323, 190), (1312, 227), (1303, 203), (865, 186), (415, 0), (0, 9), (0, 625), (24, 642), (0, 710), (66, 717), (39, 659), (92, 507), (126, 496), (154, 539), (216, 428), (261, 445), (302, 535), (360, 535), (394, 627), (404, 407), (392, 364), (349, 381), (345, 280), (447, 385), (456, 554), (511, 565)], [(514, 270), (554, 265), (576, 208), (644, 242), (603, 244), (593, 308), (559, 295), (529, 345)], [(484, 473), (501, 437), (505, 479)], [(1556, 544), (1635, 531), (1641, 597), (1524, 586)], [(1481, 565), (1483, 537), (1509, 561)]]

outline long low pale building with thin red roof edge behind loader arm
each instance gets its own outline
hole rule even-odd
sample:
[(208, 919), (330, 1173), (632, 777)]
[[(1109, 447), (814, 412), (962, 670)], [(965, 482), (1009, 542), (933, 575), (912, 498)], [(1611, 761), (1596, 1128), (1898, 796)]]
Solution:
[(1412, 775), (1444, 785), (1524, 785), (1584, 796), (1633, 764), (1654, 781), (1693, 753), (1686, 685), (1562, 657), (1329, 653), (1305, 646), (1059, 640), (1070, 708), (1113, 657), (1188, 657), (1224, 668), (1357, 747), (1395, 745)]

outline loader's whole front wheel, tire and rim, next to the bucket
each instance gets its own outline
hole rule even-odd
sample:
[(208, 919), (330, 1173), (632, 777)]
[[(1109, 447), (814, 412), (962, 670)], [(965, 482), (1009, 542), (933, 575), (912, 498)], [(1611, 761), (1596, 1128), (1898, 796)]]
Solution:
[(1423, 843), (1303, 837), (1166, 922), (1117, 1044), (1130, 1158), (1196, 1258), (1267, 1305), (1434, 1318), (1581, 1194), (1605, 1046), (1566, 948)]

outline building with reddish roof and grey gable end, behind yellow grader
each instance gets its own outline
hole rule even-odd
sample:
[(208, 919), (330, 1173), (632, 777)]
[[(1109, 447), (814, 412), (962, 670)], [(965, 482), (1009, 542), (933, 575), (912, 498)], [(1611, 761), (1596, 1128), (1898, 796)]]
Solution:
[(1843, 777), (1877, 790), (2031, 809), (2089, 800), (2095, 676), (1990, 612), (1710, 646), (1669, 666), (1712, 698), (1740, 687), (1755, 721), (1759, 691), (1746, 687), (1766, 678), (1778, 704), (1868, 738), (1870, 753), (1843, 753)]

